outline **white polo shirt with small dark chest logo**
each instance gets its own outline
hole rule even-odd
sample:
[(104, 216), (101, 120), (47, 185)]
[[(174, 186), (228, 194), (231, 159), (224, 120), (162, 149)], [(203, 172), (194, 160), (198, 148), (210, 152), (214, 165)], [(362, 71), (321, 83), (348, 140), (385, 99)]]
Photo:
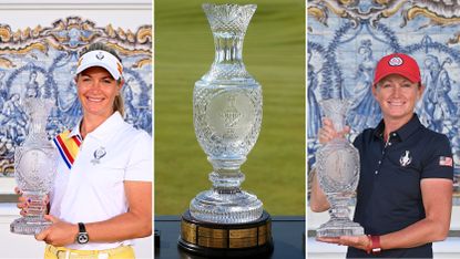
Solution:
[[(79, 125), (69, 137), (80, 137)], [(123, 182), (152, 182), (152, 137), (125, 123), (115, 112), (86, 135), (71, 168), (62, 156), (59, 157), (54, 187), (50, 194), (50, 214), (76, 224), (103, 221), (126, 213), (129, 204)], [(133, 240), (91, 242), (90, 236), (86, 245), (67, 247), (102, 250), (132, 244)]]

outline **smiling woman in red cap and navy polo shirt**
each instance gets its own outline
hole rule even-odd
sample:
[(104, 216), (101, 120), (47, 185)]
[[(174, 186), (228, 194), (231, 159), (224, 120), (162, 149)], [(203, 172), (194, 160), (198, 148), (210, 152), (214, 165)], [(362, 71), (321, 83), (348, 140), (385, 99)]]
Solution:
[[(384, 118), (354, 142), (360, 155), (355, 221), (366, 235), (318, 238), (348, 246), (347, 258), (432, 258), (432, 242), (446, 239), (452, 207), (453, 160), (449, 139), (426, 128), (415, 113), (423, 94), (420, 70), (393, 53), (377, 64), (372, 94)], [(344, 137), (325, 118), (320, 143)], [(316, 177), (310, 208), (329, 208)]]

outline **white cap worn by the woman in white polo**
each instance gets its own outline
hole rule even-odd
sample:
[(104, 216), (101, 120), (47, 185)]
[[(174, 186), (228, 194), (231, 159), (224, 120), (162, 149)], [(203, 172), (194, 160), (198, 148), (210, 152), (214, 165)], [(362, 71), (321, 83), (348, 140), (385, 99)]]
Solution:
[(103, 50), (95, 50), (84, 53), (79, 59), (75, 73), (80, 74), (85, 69), (93, 66), (104, 68), (115, 80), (119, 80), (123, 73), (123, 65), (119, 59)]

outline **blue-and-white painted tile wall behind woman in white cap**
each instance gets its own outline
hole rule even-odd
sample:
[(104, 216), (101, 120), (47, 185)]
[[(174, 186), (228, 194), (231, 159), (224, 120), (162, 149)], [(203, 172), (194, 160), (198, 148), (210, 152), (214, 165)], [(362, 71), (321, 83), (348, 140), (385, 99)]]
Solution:
[(55, 107), (50, 137), (73, 127), (81, 116), (74, 71), (78, 53), (93, 42), (114, 48), (123, 60), (125, 120), (152, 134), (152, 25), (132, 32), (79, 17), (12, 31), (0, 23), (0, 176), (13, 172), (14, 147), (25, 137), (27, 96), (50, 97)]

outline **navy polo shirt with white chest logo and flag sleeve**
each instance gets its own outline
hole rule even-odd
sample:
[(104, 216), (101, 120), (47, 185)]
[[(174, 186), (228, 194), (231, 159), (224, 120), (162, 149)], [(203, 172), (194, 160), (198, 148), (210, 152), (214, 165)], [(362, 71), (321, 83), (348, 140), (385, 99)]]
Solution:
[[(355, 221), (367, 235), (401, 230), (425, 218), (422, 178), (453, 178), (449, 139), (421, 125), (417, 114), (384, 141), (384, 121), (365, 130), (354, 145), (360, 155)], [(348, 248), (348, 258), (374, 257)], [(382, 250), (380, 257), (432, 258), (431, 244)]]

